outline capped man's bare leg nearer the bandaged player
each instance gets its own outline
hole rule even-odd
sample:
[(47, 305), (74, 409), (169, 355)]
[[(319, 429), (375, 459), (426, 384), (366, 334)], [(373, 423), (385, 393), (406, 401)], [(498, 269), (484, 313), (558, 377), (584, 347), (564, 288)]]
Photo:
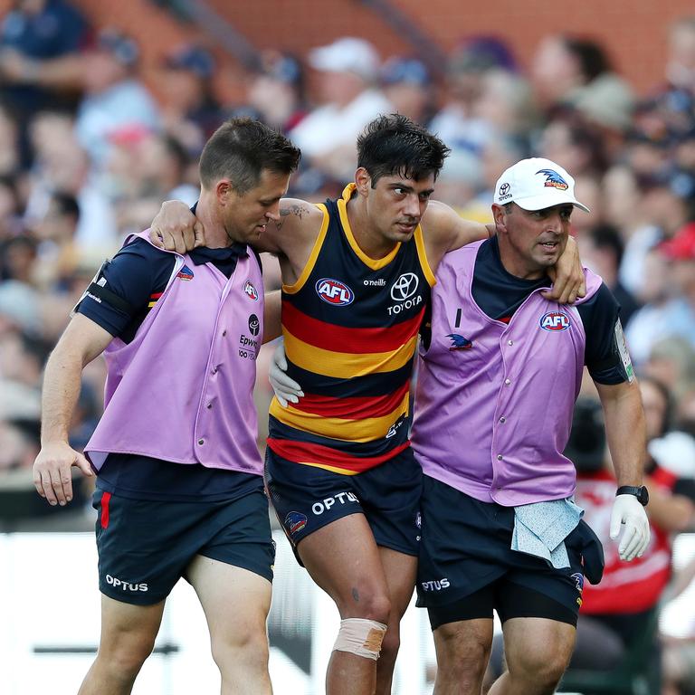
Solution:
[(434, 630), (434, 695), (480, 695), (491, 645), (491, 618), (446, 623)]

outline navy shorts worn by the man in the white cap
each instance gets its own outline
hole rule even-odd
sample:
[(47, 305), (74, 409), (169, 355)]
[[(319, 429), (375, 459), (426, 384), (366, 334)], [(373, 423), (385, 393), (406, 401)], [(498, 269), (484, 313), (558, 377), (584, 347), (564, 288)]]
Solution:
[[(514, 508), (475, 500), (424, 476), (417, 605), (433, 628), (444, 622), (492, 617), (548, 617), (576, 624), (584, 569), (578, 529), (565, 545), (570, 566), (512, 550)], [(584, 522), (581, 522), (584, 523)], [(466, 597), (471, 596), (471, 601)], [(512, 600), (507, 600), (511, 597)], [(444, 620), (447, 614), (449, 620)]]

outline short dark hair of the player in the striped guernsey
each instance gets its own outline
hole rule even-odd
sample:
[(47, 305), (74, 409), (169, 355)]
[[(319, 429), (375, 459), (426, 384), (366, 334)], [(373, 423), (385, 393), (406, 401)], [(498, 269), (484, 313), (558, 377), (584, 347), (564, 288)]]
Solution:
[(451, 150), (421, 125), (398, 113), (379, 116), (357, 138), (357, 167), (367, 169), (372, 187), (382, 176), (420, 181), (441, 171)]

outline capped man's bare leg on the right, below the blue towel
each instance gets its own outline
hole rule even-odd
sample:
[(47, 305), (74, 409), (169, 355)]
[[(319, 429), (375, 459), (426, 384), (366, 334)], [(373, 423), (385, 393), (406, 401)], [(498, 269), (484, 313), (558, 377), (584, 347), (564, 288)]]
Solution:
[(502, 630), (509, 671), (494, 682), (490, 695), (554, 693), (572, 656), (575, 627), (547, 618), (510, 618)]

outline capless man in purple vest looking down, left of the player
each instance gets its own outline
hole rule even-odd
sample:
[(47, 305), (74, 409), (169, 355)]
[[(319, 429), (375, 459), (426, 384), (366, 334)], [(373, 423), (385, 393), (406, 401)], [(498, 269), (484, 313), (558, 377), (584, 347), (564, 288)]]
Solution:
[[(300, 151), (233, 119), (205, 145), (196, 214), (206, 246), (167, 252), (134, 234), (102, 266), (46, 365), (34, 484), (71, 500), (71, 467), (97, 471), (101, 641), (81, 695), (126, 695), (180, 577), (195, 588), (222, 692), (270, 693), (266, 617), (274, 547), (252, 399), (263, 286), (248, 246), (279, 220)], [(104, 352), (105, 410), (68, 441), (81, 370)]]

